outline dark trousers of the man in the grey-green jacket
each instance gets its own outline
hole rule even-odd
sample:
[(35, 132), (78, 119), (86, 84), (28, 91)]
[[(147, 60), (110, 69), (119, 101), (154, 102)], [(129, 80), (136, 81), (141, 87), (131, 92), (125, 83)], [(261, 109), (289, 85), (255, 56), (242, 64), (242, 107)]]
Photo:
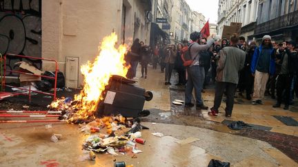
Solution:
[(222, 96), (226, 90), (226, 113), (231, 115), (234, 107), (236, 84), (230, 82), (217, 82), (215, 86), (215, 102), (213, 109), (218, 110), (221, 104)]

